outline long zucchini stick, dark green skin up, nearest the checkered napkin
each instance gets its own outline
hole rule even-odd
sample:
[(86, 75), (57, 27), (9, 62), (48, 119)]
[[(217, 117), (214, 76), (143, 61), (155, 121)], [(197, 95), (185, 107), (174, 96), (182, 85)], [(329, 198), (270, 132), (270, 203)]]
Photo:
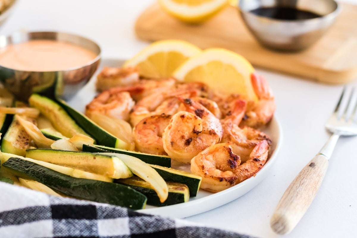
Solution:
[(32, 179), (66, 195), (94, 202), (142, 209), (147, 198), (134, 189), (117, 183), (74, 178), (30, 161), (11, 157), (2, 166), (11, 174)]

